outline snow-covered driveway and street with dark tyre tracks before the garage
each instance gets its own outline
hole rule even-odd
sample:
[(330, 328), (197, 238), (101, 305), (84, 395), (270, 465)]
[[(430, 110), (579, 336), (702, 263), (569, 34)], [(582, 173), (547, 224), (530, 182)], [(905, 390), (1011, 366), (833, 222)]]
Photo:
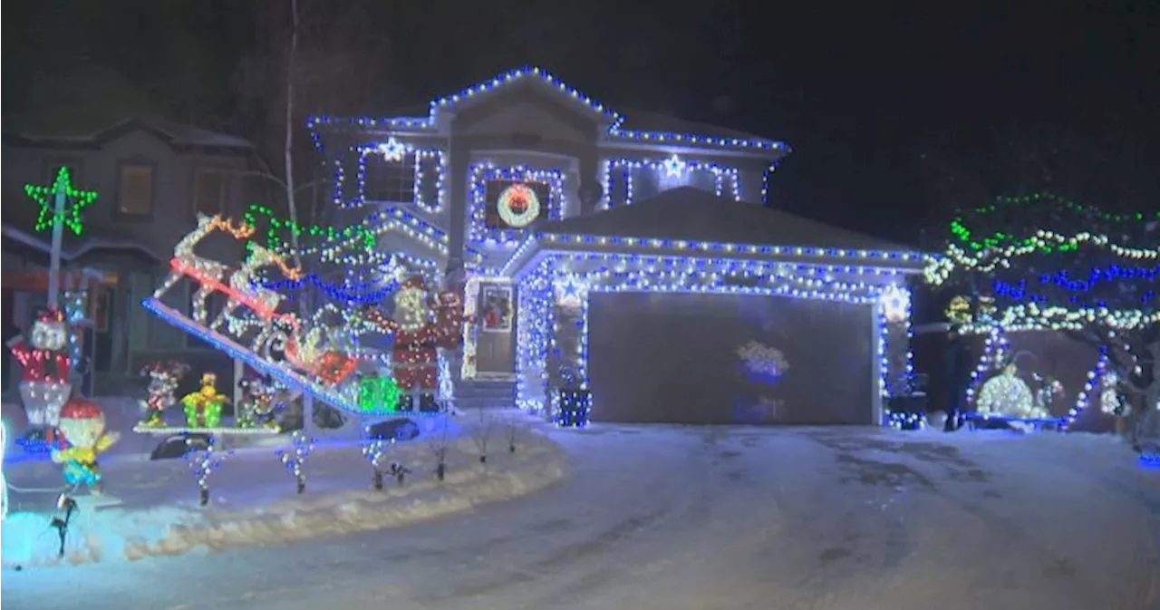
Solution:
[(570, 475), (512, 502), (408, 528), (0, 574), (0, 591), (5, 607), (45, 610), (123, 609), (125, 594), (174, 610), (1160, 608), (1160, 470), (1115, 440), (550, 434)]

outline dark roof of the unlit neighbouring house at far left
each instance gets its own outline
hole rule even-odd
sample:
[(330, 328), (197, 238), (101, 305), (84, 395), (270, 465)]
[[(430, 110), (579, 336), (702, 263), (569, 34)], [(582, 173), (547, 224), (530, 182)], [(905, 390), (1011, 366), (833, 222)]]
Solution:
[(124, 114), (101, 108), (60, 108), (0, 116), (0, 137), (16, 143), (103, 144), (137, 130), (148, 131), (177, 146), (253, 148), (253, 144), (244, 138), (148, 114)]

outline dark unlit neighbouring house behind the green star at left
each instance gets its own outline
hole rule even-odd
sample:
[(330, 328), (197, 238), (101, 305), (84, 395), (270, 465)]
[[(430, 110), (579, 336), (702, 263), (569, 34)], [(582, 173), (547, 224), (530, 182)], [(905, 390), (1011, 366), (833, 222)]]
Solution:
[[(9, 332), (2, 339), (27, 331), (46, 298), (51, 232), (35, 231), (38, 206), (24, 184), (51, 186), (67, 167), (75, 188), (99, 194), (81, 215), (82, 234), (66, 231), (61, 248), (66, 270), (104, 275), (93, 304), (95, 343), (87, 350), (95, 356), (97, 391), (115, 391), (159, 358), (231, 370), (223, 355), (139, 302), (167, 275), (173, 246), (195, 226), (197, 212), (241, 215), (251, 188), (241, 179), (252, 158), (244, 139), (154, 118), (86, 110), (0, 118), (0, 271), (7, 273), (0, 277), (8, 279), (0, 279), (0, 326)], [(208, 255), (231, 261), (241, 252), (235, 244), (206, 247)], [(2, 369), (10, 378), (15, 365)]]

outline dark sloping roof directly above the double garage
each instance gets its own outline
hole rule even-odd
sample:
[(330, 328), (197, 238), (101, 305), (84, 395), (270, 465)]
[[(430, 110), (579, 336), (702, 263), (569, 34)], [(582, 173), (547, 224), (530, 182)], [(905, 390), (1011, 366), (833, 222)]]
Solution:
[(870, 235), (831, 226), (761, 205), (679, 187), (610, 210), (549, 220), (541, 233), (631, 237), (855, 250), (912, 252)]

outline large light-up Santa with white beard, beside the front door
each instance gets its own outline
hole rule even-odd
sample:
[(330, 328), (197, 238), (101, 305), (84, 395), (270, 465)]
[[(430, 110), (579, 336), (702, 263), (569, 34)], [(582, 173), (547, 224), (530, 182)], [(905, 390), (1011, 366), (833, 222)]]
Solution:
[(432, 295), (421, 277), (411, 277), (394, 292), (394, 314), (371, 311), (368, 321), (391, 333), (391, 372), (399, 390), (414, 404), (434, 398), (438, 388), (438, 349), (455, 348), (462, 333), (463, 299), (454, 292)]

